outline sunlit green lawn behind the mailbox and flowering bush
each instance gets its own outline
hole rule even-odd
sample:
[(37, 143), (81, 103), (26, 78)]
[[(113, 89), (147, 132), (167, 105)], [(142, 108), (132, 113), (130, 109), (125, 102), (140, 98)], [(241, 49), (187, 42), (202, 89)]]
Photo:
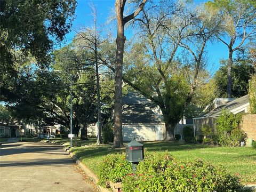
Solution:
[[(87, 141), (87, 145), (91, 142)], [(256, 151), (250, 147), (212, 147), (175, 142), (145, 142), (144, 145), (149, 153), (163, 153), (167, 150), (181, 161), (202, 158), (214, 165), (225, 167), (231, 173), (238, 173), (244, 183), (256, 183)], [(104, 155), (124, 152), (125, 149), (111, 149), (110, 145), (89, 145), (75, 147), (71, 151), (97, 174), (98, 165)]]

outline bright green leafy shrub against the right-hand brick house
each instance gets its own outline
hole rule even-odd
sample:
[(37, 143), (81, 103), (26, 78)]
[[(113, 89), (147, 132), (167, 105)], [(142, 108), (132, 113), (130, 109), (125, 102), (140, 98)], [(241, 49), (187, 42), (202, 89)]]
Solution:
[(221, 146), (240, 146), (241, 141), (246, 139), (246, 133), (240, 128), (241, 122), (241, 114), (234, 115), (228, 111), (222, 111), (216, 121), (216, 134)]

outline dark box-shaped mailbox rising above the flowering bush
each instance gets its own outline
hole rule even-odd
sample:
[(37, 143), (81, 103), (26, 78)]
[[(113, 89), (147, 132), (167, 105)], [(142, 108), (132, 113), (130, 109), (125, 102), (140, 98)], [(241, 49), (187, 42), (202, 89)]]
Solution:
[(143, 144), (138, 141), (132, 140), (128, 145), (125, 146), (126, 160), (129, 162), (140, 162), (144, 158)]

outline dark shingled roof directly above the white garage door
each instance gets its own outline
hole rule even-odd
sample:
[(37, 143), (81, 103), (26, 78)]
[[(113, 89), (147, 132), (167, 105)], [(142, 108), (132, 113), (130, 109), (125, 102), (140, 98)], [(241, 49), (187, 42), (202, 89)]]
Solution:
[(127, 124), (162, 123), (162, 120), (148, 106), (142, 104), (124, 105), (122, 121)]

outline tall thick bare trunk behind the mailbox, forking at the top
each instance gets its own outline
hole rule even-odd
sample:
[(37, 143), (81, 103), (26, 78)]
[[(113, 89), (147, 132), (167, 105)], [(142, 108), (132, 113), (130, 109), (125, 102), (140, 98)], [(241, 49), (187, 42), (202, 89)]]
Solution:
[(116, 62), (115, 62), (115, 100), (114, 100), (114, 147), (123, 146), (122, 134), (122, 73), (123, 73), (123, 59), (124, 59), (124, 26), (127, 22), (134, 19), (147, 0), (143, 0), (138, 8), (131, 14), (124, 17), (124, 7), (126, 0), (116, 0), (116, 18), (117, 18), (117, 37), (116, 37)]

